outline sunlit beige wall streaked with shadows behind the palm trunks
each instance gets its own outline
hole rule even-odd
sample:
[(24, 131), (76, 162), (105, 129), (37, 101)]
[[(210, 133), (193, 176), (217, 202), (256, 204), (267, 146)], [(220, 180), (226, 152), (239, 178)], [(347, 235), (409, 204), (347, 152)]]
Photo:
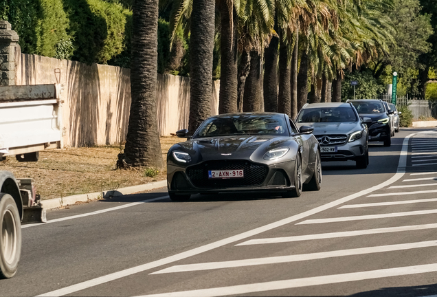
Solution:
[[(55, 74), (60, 69), (60, 74)], [(126, 139), (131, 107), (130, 69), (86, 65), (16, 50), (16, 85), (60, 83), (64, 90), (65, 146), (116, 144)], [(157, 120), (160, 135), (188, 127), (190, 78), (158, 75)], [(219, 82), (213, 84), (212, 115), (219, 110)]]

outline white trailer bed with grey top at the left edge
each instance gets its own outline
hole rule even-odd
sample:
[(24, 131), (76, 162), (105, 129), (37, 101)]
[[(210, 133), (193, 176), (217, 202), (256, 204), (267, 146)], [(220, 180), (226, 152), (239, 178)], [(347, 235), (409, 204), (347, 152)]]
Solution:
[(38, 161), (39, 151), (61, 148), (60, 85), (0, 87), (0, 159)]

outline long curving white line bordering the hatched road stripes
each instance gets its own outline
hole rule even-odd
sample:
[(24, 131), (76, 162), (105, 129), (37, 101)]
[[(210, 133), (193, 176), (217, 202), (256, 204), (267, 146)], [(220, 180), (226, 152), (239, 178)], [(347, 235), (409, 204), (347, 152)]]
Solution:
[(123, 278), (125, 276), (130, 276), (132, 274), (144, 272), (146, 270), (150, 270), (150, 269), (153, 269), (155, 267), (159, 267), (161, 265), (166, 265), (168, 263), (172, 263), (175, 261), (186, 259), (190, 256), (195, 256), (195, 255), (201, 254), (203, 252), (208, 252), (210, 250), (214, 250), (215, 248), (219, 248), (223, 245), (227, 245), (229, 243), (234, 243), (235, 241), (240, 241), (242, 239), (246, 239), (247, 237), (254, 236), (254, 235), (260, 234), (262, 232), (272, 230), (274, 228), (278, 228), (282, 225), (287, 225), (289, 223), (292, 223), (294, 221), (298, 221), (300, 219), (304, 219), (305, 217), (309, 217), (313, 214), (322, 212), (324, 210), (334, 208), (335, 206), (339, 206), (340, 204), (346, 203), (352, 199), (355, 199), (357, 197), (361, 197), (361, 196), (366, 195), (366, 194), (373, 192), (375, 190), (385, 188), (386, 186), (389, 186), (390, 184), (393, 184), (394, 182), (401, 179), (403, 177), (403, 175), (405, 174), (405, 166), (407, 165), (407, 155), (408, 155), (408, 141), (410, 140), (410, 137), (412, 137), (414, 134), (415, 133), (412, 133), (404, 138), (403, 144), (402, 144), (401, 154), (399, 155), (399, 164), (398, 164), (397, 172), (394, 174), (393, 177), (391, 177), (387, 181), (384, 181), (382, 184), (379, 184), (377, 186), (373, 186), (372, 188), (368, 188), (366, 190), (361, 190), (360, 192), (357, 192), (355, 194), (348, 195), (346, 197), (337, 199), (337, 200), (332, 201), (330, 203), (326, 203), (322, 206), (318, 206), (317, 208), (313, 208), (312, 210), (308, 210), (306, 212), (296, 214), (292, 217), (288, 217), (286, 219), (282, 219), (280, 221), (276, 221), (274, 223), (270, 223), (268, 225), (264, 225), (264, 226), (256, 228), (256, 229), (249, 230), (247, 232), (243, 232), (241, 234), (237, 234), (237, 235), (228, 237), (227, 239), (221, 239), (221, 240), (216, 241), (214, 243), (209, 243), (209, 244), (203, 245), (199, 248), (194, 248), (194, 249), (188, 250), (186, 252), (181, 252), (179, 254), (175, 254), (173, 256), (169, 256), (169, 257), (164, 258), (164, 259), (160, 259), (160, 260), (146, 263), (143, 265), (138, 265), (136, 267), (131, 267), (131, 268), (128, 268), (126, 270), (119, 271), (119, 272), (113, 272), (112, 274), (100, 276), (98, 278), (94, 278), (94, 279), (85, 281), (83, 283), (77, 283), (76, 285), (70, 285), (69, 287), (56, 289), (52, 292), (47, 292), (45, 294), (38, 295), (38, 296), (64, 296), (67, 294), (72, 294), (74, 292), (82, 291), (84, 289), (88, 289), (89, 287), (94, 287), (96, 285), (108, 283), (110, 281), (114, 281), (116, 279)]

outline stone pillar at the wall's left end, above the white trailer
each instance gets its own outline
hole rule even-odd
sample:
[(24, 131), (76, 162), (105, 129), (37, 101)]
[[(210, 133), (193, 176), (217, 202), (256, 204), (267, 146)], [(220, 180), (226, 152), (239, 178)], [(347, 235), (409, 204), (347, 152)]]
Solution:
[(19, 36), (8, 21), (0, 20), (0, 85), (15, 85), (15, 47)]

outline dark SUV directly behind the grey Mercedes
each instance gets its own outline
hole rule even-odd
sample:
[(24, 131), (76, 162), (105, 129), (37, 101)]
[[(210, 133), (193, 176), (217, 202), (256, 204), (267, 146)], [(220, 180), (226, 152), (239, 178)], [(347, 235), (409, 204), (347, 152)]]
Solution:
[(348, 100), (357, 109), (361, 118), (372, 119), (372, 124), (368, 126), (369, 141), (382, 141), (384, 146), (392, 144), (392, 110), (388, 109), (383, 100)]

